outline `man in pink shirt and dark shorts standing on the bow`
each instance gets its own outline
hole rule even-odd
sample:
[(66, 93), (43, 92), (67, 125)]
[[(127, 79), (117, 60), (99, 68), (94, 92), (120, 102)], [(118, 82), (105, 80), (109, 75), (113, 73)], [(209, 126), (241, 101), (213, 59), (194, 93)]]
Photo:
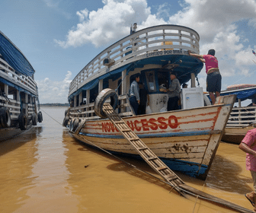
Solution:
[(200, 59), (201, 62), (205, 63), (206, 74), (207, 74), (206, 91), (209, 92), (210, 99), (214, 104), (216, 101), (216, 97), (218, 97), (220, 94), (221, 81), (222, 81), (222, 76), (220, 75), (220, 72), (219, 72), (218, 60), (215, 57), (215, 50), (210, 49), (208, 51), (208, 54), (203, 56), (191, 53), (190, 51), (188, 52), (188, 54), (190, 56), (197, 57), (198, 59)]

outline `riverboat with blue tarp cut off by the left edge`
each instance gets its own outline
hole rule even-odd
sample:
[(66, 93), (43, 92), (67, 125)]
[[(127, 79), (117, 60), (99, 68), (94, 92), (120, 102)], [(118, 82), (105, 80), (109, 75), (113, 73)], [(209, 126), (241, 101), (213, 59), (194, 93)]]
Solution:
[(0, 31), (0, 141), (42, 122), (34, 68)]

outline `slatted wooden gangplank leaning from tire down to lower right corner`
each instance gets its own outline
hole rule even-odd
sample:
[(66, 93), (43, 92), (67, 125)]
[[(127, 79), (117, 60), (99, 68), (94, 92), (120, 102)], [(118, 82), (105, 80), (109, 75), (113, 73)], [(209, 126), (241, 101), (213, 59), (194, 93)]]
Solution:
[(228, 202), (223, 199), (219, 199), (215, 196), (211, 196), (206, 192), (202, 192), (193, 187), (187, 186), (180, 177), (178, 177), (164, 162), (162, 162), (154, 152), (152, 152), (145, 143), (139, 139), (139, 137), (133, 132), (132, 129), (124, 122), (124, 120), (114, 111), (113, 107), (109, 103), (104, 103), (103, 112), (106, 114), (108, 119), (117, 127), (117, 129), (122, 133), (123, 137), (136, 148), (139, 155), (158, 173), (162, 178), (165, 179), (174, 189), (179, 192), (182, 196), (186, 194), (190, 196), (196, 196), (199, 199), (206, 200), (208, 202), (213, 202), (218, 205), (222, 205), (226, 208), (231, 208), (238, 212), (248, 213), (254, 212), (247, 208), (243, 208), (240, 205), (235, 205), (232, 202)]

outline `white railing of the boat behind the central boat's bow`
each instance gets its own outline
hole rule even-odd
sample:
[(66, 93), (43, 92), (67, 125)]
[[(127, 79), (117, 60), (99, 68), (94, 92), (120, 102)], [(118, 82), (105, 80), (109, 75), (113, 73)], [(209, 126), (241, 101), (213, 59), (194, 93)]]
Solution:
[(243, 127), (256, 122), (256, 106), (234, 107), (226, 127)]

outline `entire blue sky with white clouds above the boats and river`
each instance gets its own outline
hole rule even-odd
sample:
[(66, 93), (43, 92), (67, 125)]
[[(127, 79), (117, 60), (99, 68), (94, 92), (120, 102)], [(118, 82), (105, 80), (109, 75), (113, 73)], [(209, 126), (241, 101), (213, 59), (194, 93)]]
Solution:
[[(216, 49), (222, 89), (256, 84), (255, 0), (2, 0), (1, 8), (0, 30), (36, 70), (40, 103), (66, 103), (72, 78), (134, 22), (196, 30), (201, 54)], [(205, 90), (205, 68), (198, 77)]]

